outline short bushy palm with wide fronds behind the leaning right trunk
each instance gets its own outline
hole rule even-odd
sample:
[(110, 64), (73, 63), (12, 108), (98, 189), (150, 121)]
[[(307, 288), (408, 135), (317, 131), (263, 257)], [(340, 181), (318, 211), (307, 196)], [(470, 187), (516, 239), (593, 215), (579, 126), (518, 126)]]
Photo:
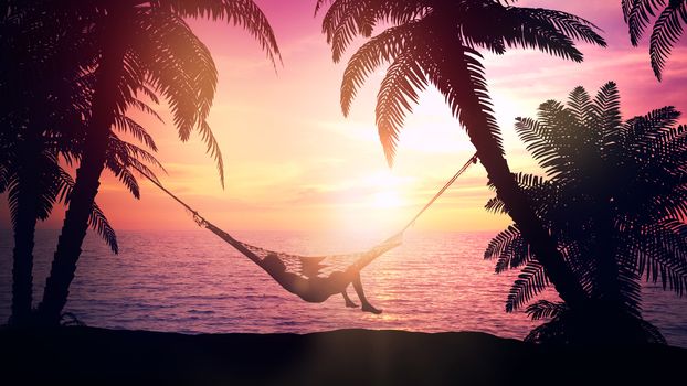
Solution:
[[(679, 115), (664, 107), (623, 122), (610, 82), (594, 99), (578, 87), (567, 105), (549, 100), (538, 119), (517, 119), (518, 135), (546, 172), (518, 174), (518, 184), (594, 304), (585, 313), (548, 301), (530, 305), (536, 319), (554, 318), (530, 340), (664, 341), (641, 319), (640, 280), (660, 280), (680, 296), (687, 289), (687, 127), (675, 126)], [(493, 199), (487, 207), (504, 204)], [(497, 272), (521, 270), (508, 311), (549, 286), (517, 225), (498, 234), (485, 257), (497, 259)]]

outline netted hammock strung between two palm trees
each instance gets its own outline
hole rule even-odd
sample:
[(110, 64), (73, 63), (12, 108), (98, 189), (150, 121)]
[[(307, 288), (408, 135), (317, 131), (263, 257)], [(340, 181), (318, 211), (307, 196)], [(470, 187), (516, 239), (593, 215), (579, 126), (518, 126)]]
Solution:
[[(282, 287), (287, 289), (290, 292), (298, 294), (302, 299), (307, 300), (302, 293), (295, 292), (293, 289), (289, 289), (289, 286), (286, 286), (282, 281), (283, 275), (275, 272), (274, 268), (266, 264), (265, 258), (268, 256), (278, 258), (282, 264), (286, 267), (286, 272), (295, 274), (302, 279), (308, 280), (311, 278), (324, 278), (325, 280), (336, 271), (341, 272), (359, 272), (362, 268), (368, 266), (374, 259), (383, 255), (384, 253), (398, 247), (402, 243), (403, 233), (410, 228), (418, 217), (420, 217), (435, 201), (438, 199), (457, 179), (463, 174), (472, 163), (477, 162), (477, 153), (475, 153), (465, 164), (444, 184), (444, 186), (420, 210), (413, 218), (405, 224), (400, 232), (389, 237), (388, 239), (377, 244), (370, 249), (356, 253), (356, 254), (345, 254), (345, 255), (324, 255), (324, 256), (300, 256), (300, 255), (292, 255), (283, 251), (274, 251), (265, 248), (261, 248), (247, 243), (240, 242), (232, 237), (226, 232), (220, 229), (214, 224), (210, 223), (203, 216), (201, 216), (197, 211), (194, 211), (187, 203), (181, 201), (170, 191), (168, 191), (162, 184), (157, 181), (155, 178), (145, 173), (144, 171), (138, 170), (144, 176), (146, 176), (150, 182), (157, 185), (160, 190), (167, 193), (170, 197), (176, 200), (179, 204), (181, 204), (187, 211), (189, 211), (193, 215), (193, 221), (201, 227), (207, 228), (208, 230), (214, 233), (216, 236), (222, 238), (225, 243), (234, 247), (242, 255), (251, 259), (257, 266), (263, 268), (275, 281), (277, 281)], [(326, 261), (326, 264), (325, 264)], [(332, 293), (334, 294), (334, 293)]]

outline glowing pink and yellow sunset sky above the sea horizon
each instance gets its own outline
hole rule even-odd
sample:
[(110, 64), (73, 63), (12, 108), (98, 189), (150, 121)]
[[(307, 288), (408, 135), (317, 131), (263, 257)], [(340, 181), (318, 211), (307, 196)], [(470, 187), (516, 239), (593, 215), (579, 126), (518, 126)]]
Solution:
[[(225, 164), (222, 189), (213, 160), (198, 137), (177, 139), (171, 124), (150, 124), (176, 192), (209, 219), (226, 229), (388, 230), (402, 225), (473, 154), (463, 128), (434, 89), (423, 94), (408, 119), (395, 165), (387, 167), (374, 127), (374, 100), (382, 71), (355, 100), (350, 117), (339, 107), (346, 61), (331, 61), (313, 17), (314, 0), (256, 0), (266, 13), (282, 50), (283, 65), (272, 64), (239, 28), (192, 21), (213, 54), (220, 73), (209, 119)], [(512, 129), (515, 117), (535, 116), (546, 99), (564, 100), (577, 85), (590, 93), (607, 81), (621, 90), (624, 118), (674, 105), (687, 111), (687, 42), (683, 39), (668, 62), (664, 82), (649, 67), (647, 40), (630, 44), (619, 0), (519, 1), (577, 13), (599, 25), (607, 49), (579, 44), (583, 64), (536, 51), (487, 55), (485, 65), (495, 111), (506, 138), (514, 171), (533, 171)], [(159, 108), (168, 116), (165, 106)], [(171, 119), (166, 119), (171, 122)], [(416, 224), (421, 229), (496, 230), (509, 223), (488, 214), (482, 165), (473, 167)], [(172, 200), (144, 183), (140, 201), (106, 175), (97, 202), (116, 229), (192, 229), (195, 224)], [(2, 227), (10, 227), (2, 205)], [(42, 227), (60, 227), (59, 207)]]

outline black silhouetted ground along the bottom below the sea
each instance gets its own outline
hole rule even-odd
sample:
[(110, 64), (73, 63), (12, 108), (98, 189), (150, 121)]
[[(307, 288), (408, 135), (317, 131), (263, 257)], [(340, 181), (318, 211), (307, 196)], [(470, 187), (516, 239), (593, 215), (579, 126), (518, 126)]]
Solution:
[(2, 385), (687, 384), (687, 350), (545, 347), (483, 333), (0, 331)]

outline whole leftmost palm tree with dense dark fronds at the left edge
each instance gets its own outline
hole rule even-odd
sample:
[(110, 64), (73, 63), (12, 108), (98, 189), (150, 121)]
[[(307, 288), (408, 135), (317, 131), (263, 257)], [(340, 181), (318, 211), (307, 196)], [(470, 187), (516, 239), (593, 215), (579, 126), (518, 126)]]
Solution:
[[(88, 83), (93, 78), (77, 66), (54, 65), (66, 53), (74, 58), (75, 52), (85, 52), (78, 39), (81, 30), (55, 29), (55, 19), (44, 18), (30, 6), (35, 4), (8, 6), (0, 21), (0, 89), (13, 96), (0, 106), (4, 156), (0, 159), (0, 192), (9, 192), (14, 230), (12, 325), (31, 322), (35, 225), (50, 216), (55, 202), (68, 202), (74, 182), (59, 159), (71, 165), (80, 158), (85, 132), (81, 118), (88, 114)], [(46, 30), (59, 33), (47, 35)], [(128, 125), (125, 129), (140, 131), (129, 118), (121, 120)], [(145, 140), (144, 144), (155, 150), (151, 139)], [(138, 195), (136, 180), (130, 179), (131, 165), (150, 172), (145, 163), (159, 163), (146, 150), (116, 136), (112, 141), (108, 169)], [(96, 204), (91, 208), (88, 225), (117, 253), (116, 234)]]

